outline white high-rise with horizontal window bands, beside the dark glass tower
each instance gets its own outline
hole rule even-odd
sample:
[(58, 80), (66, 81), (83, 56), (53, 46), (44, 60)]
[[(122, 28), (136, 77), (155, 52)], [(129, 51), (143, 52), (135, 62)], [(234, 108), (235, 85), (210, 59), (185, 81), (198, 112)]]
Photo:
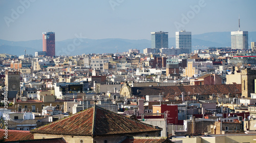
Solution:
[(191, 53), (191, 32), (176, 32), (176, 49), (181, 49), (182, 53)]

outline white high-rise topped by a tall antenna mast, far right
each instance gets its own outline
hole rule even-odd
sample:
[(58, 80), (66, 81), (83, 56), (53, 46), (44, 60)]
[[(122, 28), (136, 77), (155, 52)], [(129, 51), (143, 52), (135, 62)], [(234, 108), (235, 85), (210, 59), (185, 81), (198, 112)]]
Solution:
[(248, 31), (240, 31), (240, 17), (238, 27), (238, 31), (231, 32), (231, 48), (248, 49)]

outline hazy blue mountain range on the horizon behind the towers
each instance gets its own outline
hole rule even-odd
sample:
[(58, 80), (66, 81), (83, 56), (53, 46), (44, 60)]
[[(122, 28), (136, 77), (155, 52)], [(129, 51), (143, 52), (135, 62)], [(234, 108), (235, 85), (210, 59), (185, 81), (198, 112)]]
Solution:
[[(175, 47), (175, 37), (170, 37), (169, 48)], [(74, 42), (75, 41), (75, 42)], [(256, 41), (256, 32), (248, 34), (250, 42)], [(192, 50), (206, 49), (208, 47), (230, 47), (230, 32), (212, 32), (192, 35)], [(56, 55), (78, 55), (88, 53), (116, 53), (128, 51), (129, 49), (151, 48), (151, 40), (128, 40), (128, 39), (68, 39), (55, 42)], [(42, 40), (30, 41), (6, 41), (0, 39), (0, 53), (13, 55), (35, 54), (35, 51), (42, 51)]]

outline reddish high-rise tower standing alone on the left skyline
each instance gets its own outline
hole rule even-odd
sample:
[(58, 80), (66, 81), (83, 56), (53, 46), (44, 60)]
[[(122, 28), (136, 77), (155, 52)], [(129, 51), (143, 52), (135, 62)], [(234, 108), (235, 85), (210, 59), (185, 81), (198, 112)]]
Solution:
[(42, 33), (42, 51), (46, 52), (46, 56), (55, 56), (55, 33)]

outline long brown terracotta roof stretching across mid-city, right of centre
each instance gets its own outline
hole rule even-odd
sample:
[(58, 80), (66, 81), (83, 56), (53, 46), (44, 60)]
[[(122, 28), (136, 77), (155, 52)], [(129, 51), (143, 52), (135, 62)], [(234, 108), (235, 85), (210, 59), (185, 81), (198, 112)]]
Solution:
[[(194, 91), (195, 88), (195, 91)], [(143, 95), (159, 95), (163, 93), (164, 95), (180, 95), (185, 92), (187, 95), (193, 93), (199, 93), (200, 95), (212, 95), (216, 94), (234, 94), (235, 90), (237, 94), (242, 93), (242, 84), (219, 84), (219, 85), (181, 85), (181, 86), (169, 86), (169, 87), (132, 87), (133, 95), (137, 95), (137, 90), (139, 91), (138, 96)]]

